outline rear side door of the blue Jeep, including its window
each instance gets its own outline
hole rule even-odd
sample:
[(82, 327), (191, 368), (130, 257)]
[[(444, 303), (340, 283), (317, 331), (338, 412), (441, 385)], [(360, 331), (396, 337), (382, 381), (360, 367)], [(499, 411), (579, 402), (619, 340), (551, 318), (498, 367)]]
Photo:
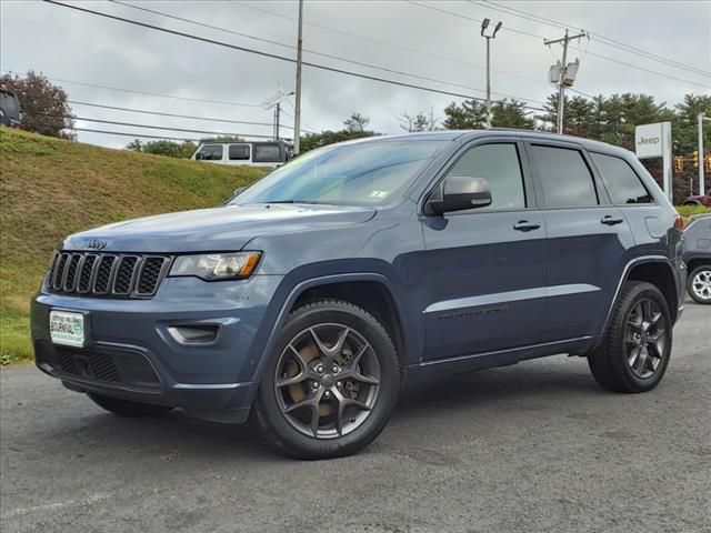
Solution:
[(548, 239), (543, 342), (595, 335), (634, 245), (620, 208), (585, 150), (569, 142), (527, 143)]

